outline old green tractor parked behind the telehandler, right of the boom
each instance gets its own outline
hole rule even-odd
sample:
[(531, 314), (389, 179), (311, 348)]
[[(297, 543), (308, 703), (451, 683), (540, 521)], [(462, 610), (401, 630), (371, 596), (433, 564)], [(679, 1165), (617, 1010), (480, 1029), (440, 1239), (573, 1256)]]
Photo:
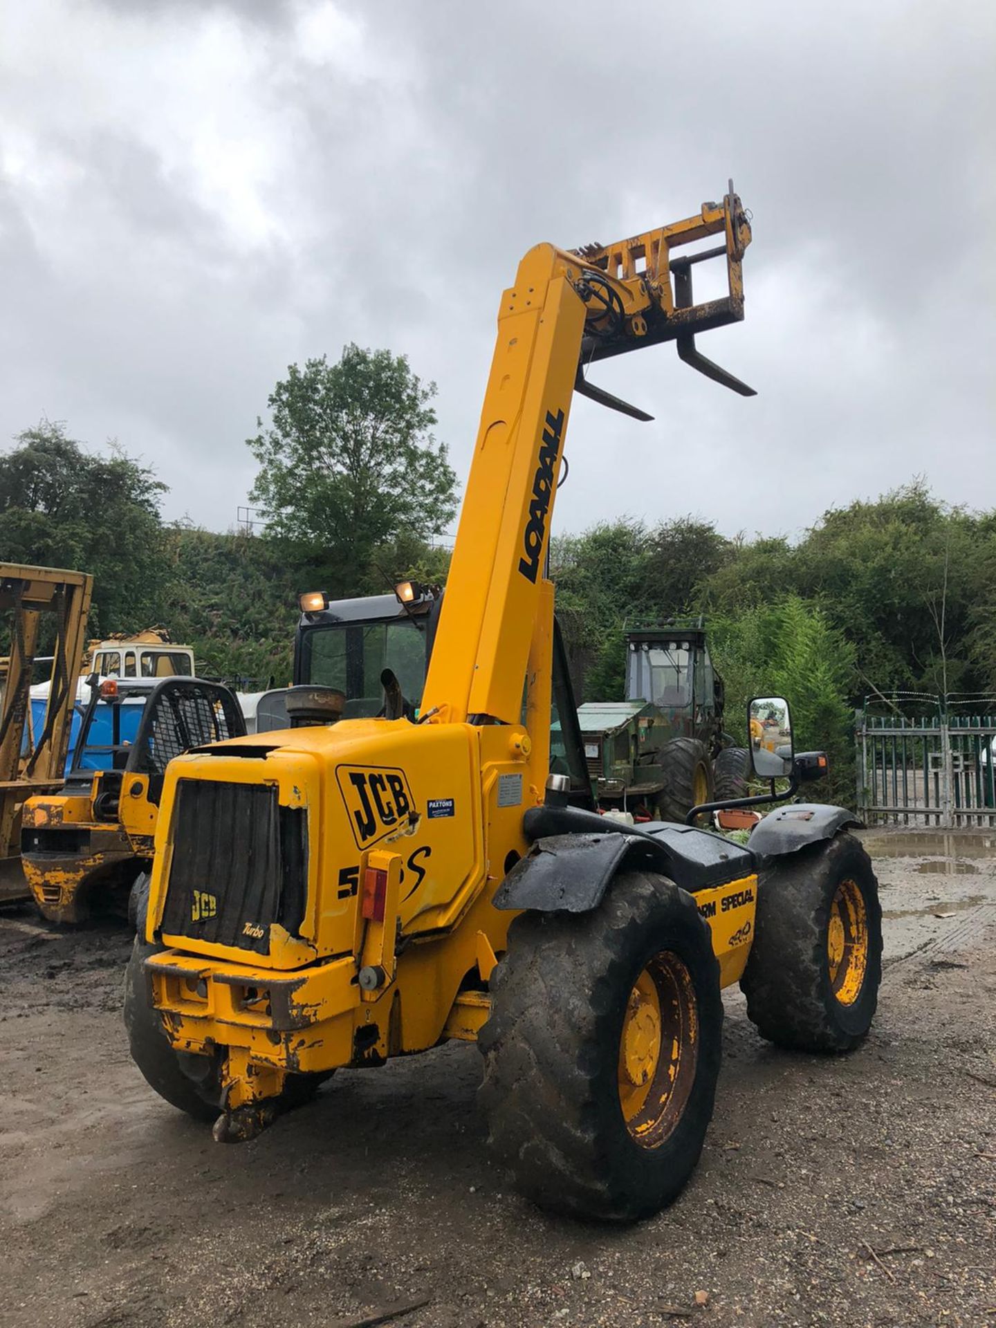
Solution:
[(722, 730), (722, 679), (701, 618), (625, 633), (625, 700), (578, 708), (600, 807), (684, 821), (703, 802), (746, 797), (750, 757)]

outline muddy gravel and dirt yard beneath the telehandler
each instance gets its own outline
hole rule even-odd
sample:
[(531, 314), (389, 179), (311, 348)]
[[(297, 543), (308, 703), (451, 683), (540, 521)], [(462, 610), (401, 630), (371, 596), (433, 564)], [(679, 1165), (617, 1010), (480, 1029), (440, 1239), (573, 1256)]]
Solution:
[(878, 861), (869, 1041), (790, 1056), (730, 996), (703, 1163), (627, 1231), (509, 1193), (463, 1044), (340, 1073), (255, 1142), (214, 1145), (127, 1057), (126, 932), (8, 911), (0, 1323), (335, 1328), (417, 1301), (390, 1323), (996, 1323), (996, 859), (914, 849)]

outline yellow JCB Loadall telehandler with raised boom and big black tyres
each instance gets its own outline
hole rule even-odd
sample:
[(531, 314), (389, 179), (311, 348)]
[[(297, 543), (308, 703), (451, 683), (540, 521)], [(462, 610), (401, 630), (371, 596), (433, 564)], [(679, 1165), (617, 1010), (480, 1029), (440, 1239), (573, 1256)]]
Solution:
[[(570, 805), (590, 785), (544, 564), (571, 394), (645, 418), (583, 371), (667, 340), (748, 393), (695, 335), (742, 319), (749, 240), (730, 186), (616, 244), (531, 250), (501, 301), (417, 721), (385, 669), (382, 717), (170, 764), (125, 1019), (151, 1086), (215, 1138), (251, 1137), (340, 1066), (475, 1040), (490, 1141), (521, 1190), (627, 1220), (696, 1165), (722, 987), (742, 981), (784, 1045), (846, 1050), (867, 1032), (880, 915), (847, 811), (786, 807), (748, 850)], [(728, 293), (695, 304), (692, 264), (712, 255)], [(764, 756), (794, 791), (825, 758), (793, 756), (776, 700)]]

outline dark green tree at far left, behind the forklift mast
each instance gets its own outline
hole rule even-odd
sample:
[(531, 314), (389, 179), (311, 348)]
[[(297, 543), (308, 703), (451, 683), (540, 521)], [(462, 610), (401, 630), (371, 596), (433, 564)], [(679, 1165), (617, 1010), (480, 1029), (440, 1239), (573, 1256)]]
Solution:
[(165, 580), (154, 473), (117, 445), (94, 456), (42, 420), (0, 457), (0, 550), (11, 562), (94, 578), (90, 631), (137, 631), (158, 616)]

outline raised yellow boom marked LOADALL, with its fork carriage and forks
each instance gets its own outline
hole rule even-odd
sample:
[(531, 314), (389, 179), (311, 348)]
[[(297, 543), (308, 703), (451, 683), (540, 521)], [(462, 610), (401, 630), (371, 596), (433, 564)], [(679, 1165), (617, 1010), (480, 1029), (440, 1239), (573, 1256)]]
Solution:
[[(681, 246), (722, 236), (705, 252)], [(741, 259), (750, 226), (730, 190), (697, 216), (607, 246), (539, 244), (502, 295), (498, 337), (422, 699), (436, 721), (518, 722), (574, 390), (637, 418), (592, 386), (592, 361), (677, 341), (683, 360), (744, 394), (705, 360), (696, 332), (744, 317)], [(725, 256), (728, 292), (695, 304), (692, 267)]]

